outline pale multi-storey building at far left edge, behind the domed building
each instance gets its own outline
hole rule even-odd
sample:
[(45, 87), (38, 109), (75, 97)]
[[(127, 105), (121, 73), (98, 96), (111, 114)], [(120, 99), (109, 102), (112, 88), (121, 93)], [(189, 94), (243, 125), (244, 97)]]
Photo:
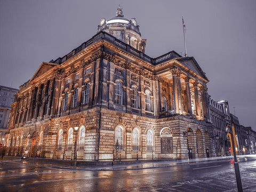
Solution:
[(0, 144), (2, 145), (8, 128), (11, 103), (17, 91), (19, 90), (0, 85)]

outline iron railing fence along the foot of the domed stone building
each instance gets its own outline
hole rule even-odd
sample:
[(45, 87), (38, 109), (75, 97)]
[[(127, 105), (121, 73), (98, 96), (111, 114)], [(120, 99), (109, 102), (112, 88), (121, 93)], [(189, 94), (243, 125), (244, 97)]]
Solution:
[[(1, 150), (1, 148), (0, 148)], [(4, 147), (3, 153), (10, 156), (46, 157), (77, 161), (134, 161), (142, 159), (175, 159), (177, 151), (172, 145), (133, 146), (95, 142), (74, 145), (42, 145)], [(75, 152), (76, 151), (76, 152)], [(1, 153), (1, 151), (0, 151)]]

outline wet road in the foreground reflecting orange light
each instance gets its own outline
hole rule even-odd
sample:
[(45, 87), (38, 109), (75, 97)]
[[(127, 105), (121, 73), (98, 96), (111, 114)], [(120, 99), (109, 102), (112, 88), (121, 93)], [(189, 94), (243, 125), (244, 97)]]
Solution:
[[(239, 163), (244, 191), (256, 191), (256, 161)], [(87, 171), (0, 162), (0, 191), (237, 191), (234, 164)]]

